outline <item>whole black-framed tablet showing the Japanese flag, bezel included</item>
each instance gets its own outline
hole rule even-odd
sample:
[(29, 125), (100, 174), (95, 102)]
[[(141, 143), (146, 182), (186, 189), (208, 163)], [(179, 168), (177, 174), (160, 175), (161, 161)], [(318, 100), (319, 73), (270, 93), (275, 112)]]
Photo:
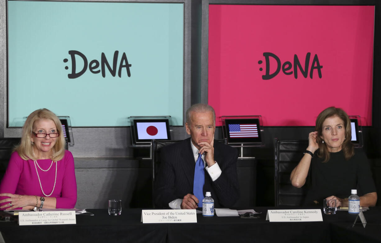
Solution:
[(147, 143), (152, 139), (171, 139), (168, 119), (139, 119), (133, 120), (131, 125), (135, 143)]

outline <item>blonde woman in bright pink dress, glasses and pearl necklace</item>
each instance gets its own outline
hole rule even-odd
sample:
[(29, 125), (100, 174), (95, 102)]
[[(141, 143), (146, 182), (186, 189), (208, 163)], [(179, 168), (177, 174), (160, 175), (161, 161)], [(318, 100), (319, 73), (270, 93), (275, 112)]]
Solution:
[(74, 159), (61, 121), (48, 109), (35, 110), (0, 183), (0, 209), (74, 208), (76, 201)]

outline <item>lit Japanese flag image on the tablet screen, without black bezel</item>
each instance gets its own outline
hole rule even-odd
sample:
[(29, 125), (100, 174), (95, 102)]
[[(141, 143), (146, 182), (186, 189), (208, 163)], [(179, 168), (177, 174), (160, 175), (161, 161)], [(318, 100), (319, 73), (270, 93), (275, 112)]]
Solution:
[(168, 139), (165, 122), (138, 122), (138, 139)]

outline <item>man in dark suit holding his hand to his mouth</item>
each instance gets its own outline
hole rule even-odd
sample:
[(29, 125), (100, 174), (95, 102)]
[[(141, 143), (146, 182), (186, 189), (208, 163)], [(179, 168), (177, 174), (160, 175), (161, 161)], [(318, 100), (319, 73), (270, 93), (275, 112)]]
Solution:
[(197, 198), (193, 189), (199, 154), (205, 166), (203, 195), (211, 192), (217, 208), (231, 207), (238, 200), (238, 153), (236, 149), (214, 140), (215, 120), (215, 111), (207, 104), (195, 104), (187, 110), (185, 127), (191, 137), (163, 147), (154, 189), (156, 206), (198, 208), (203, 198)]

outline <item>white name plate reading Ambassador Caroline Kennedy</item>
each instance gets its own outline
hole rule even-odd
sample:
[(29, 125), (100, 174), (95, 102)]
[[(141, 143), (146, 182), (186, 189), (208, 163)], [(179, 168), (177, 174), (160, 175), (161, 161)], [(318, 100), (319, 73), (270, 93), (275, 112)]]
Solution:
[(267, 210), (266, 220), (270, 222), (314, 222), (323, 221), (321, 209)]

